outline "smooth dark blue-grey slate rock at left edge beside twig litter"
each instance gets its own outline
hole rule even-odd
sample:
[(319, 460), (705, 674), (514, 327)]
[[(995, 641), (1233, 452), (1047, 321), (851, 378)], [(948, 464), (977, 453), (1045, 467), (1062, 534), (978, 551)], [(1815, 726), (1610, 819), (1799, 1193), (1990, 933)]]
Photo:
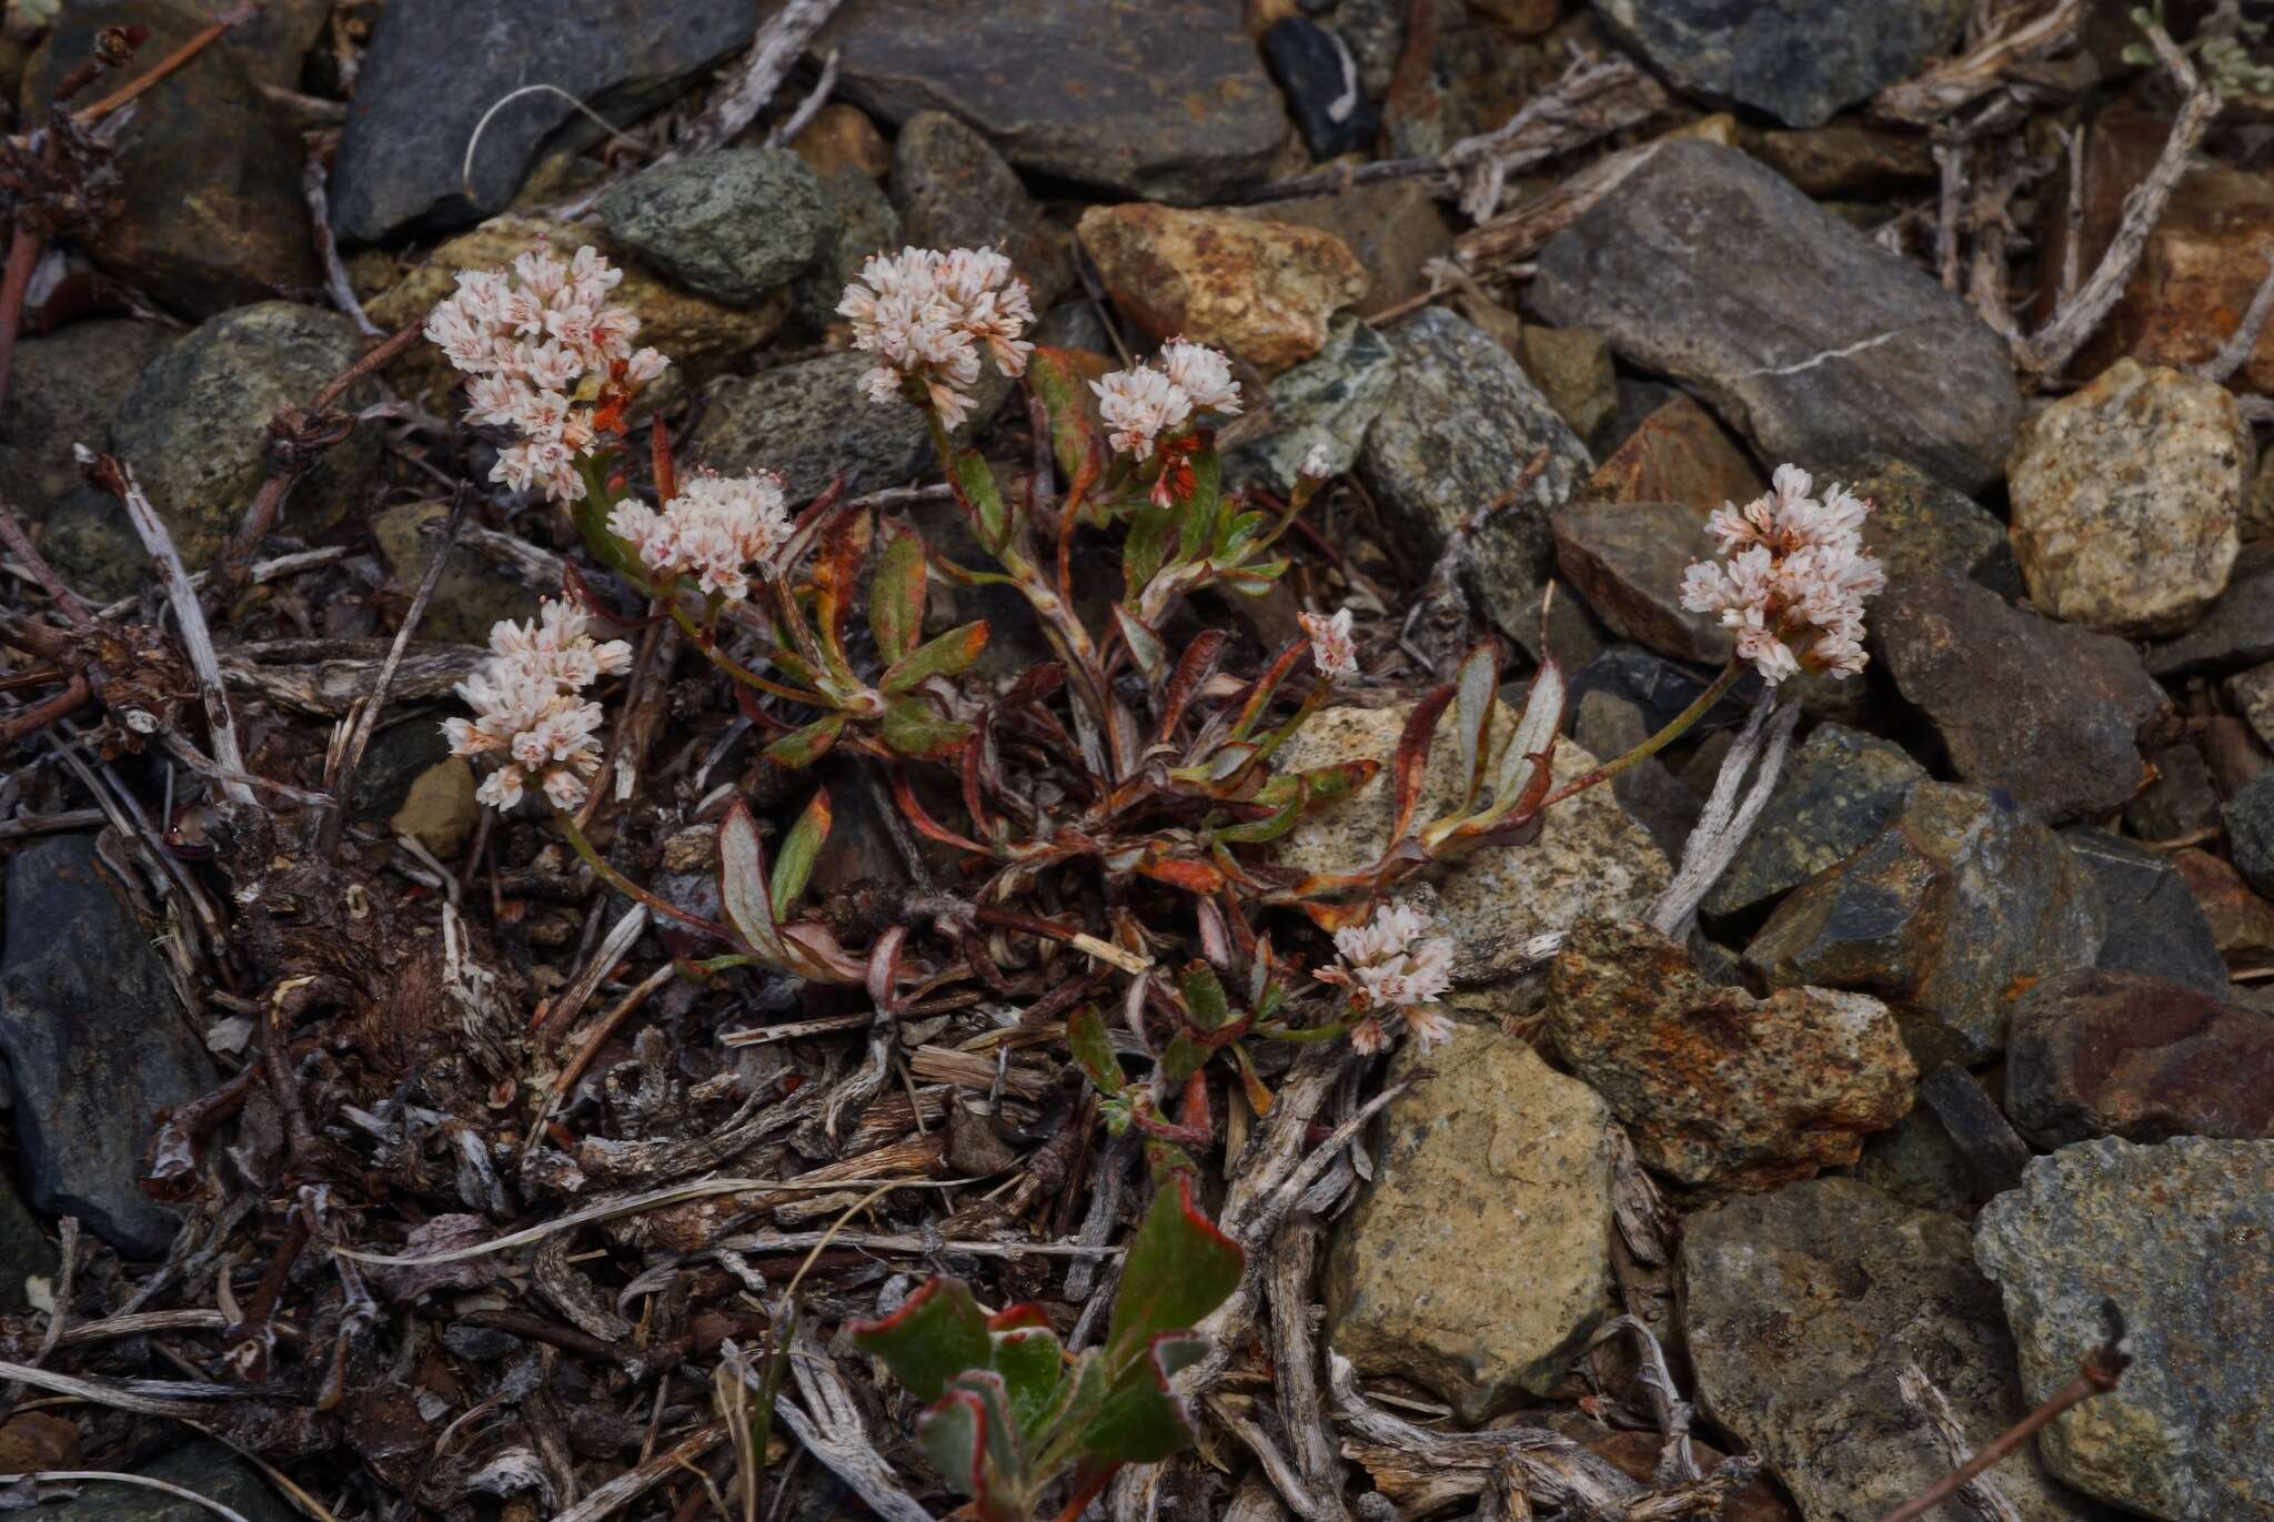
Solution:
[(177, 1217), (141, 1192), (143, 1153), (157, 1112), (207, 1092), (214, 1067), (91, 835), (9, 860), (0, 1056), (32, 1203), (130, 1258), (164, 1256)]

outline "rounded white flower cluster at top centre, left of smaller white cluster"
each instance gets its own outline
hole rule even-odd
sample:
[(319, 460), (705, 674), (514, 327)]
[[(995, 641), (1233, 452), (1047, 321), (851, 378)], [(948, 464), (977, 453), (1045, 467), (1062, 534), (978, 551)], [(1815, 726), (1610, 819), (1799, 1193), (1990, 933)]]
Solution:
[(982, 346), (1005, 375), (1023, 375), (1035, 350), (1019, 337), (1035, 321), (1026, 282), (994, 248), (869, 255), (837, 314), (853, 323), (853, 348), (882, 359), (860, 378), (869, 400), (896, 400), (916, 380), (948, 428), (971, 414)]

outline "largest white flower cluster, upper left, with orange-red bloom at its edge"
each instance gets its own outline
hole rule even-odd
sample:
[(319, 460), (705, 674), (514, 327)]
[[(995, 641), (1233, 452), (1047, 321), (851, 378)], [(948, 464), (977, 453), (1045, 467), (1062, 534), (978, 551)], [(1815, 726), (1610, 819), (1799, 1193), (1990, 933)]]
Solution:
[(594, 410), (578, 403), (587, 378), (630, 389), (664, 373), (669, 359), (632, 348), (639, 319), (605, 305), (619, 280), (623, 271), (594, 248), (566, 262), (532, 248), (512, 273), (462, 271), (457, 293), (428, 314), (428, 341), (473, 378), (466, 416), (521, 435), (500, 450), (491, 480), (537, 487), (555, 503), (582, 498), (575, 460), (594, 446)]

